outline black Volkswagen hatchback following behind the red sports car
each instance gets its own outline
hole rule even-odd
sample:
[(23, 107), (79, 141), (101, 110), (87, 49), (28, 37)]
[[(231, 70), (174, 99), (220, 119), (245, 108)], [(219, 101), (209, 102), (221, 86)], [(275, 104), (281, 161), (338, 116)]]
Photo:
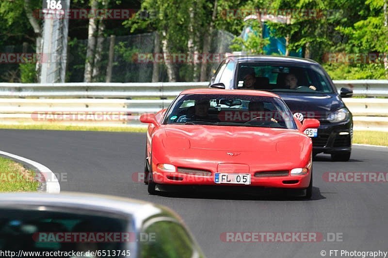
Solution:
[(313, 142), (313, 154), (331, 154), (333, 161), (348, 161), (352, 151), (352, 113), (342, 98), (353, 91), (337, 92), (323, 67), (312, 60), (281, 56), (230, 56), (210, 81), (211, 88), (271, 91), (286, 102), (299, 121), (315, 118), (317, 129), (305, 133)]

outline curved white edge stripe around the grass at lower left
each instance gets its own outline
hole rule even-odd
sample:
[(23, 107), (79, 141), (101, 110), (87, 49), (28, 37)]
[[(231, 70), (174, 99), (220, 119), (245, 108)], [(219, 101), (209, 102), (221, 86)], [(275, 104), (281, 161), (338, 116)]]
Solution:
[(32, 167), (35, 167), (36, 169), (38, 169), (39, 172), (41, 172), (41, 174), (44, 177), (44, 180), (46, 183), (46, 192), (47, 193), (57, 194), (61, 191), (61, 187), (59, 185), (58, 178), (55, 176), (55, 174), (48, 167), (46, 167), (40, 163), (37, 163), (33, 160), (26, 159), (26, 158), (17, 156), (17, 155), (12, 154), (12, 153), (0, 151), (0, 154), (17, 159), (17, 160), (20, 160), (20, 161), (23, 161), (25, 163), (30, 164)]

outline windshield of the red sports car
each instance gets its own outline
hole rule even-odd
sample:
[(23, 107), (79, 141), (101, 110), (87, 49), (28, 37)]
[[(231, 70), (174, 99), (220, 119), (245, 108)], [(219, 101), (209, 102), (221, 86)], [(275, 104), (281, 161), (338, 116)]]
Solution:
[(169, 108), (163, 124), (207, 124), (296, 129), (291, 111), (275, 97), (184, 94)]

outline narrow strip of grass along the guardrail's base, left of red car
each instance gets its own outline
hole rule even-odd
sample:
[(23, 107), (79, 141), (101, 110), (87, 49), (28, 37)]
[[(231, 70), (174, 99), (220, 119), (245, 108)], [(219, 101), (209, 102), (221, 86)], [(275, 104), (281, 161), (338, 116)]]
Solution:
[(0, 124), (0, 129), (22, 130), (61, 130), (61, 131), (97, 131), (97, 132), (131, 132), (145, 133), (146, 127), (108, 127), (108, 126), (77, 126), (61, 124)]

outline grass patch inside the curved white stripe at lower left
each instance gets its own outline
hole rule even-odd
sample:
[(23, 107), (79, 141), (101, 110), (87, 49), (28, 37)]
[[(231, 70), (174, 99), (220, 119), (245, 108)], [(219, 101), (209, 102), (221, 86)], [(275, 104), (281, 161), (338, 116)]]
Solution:
[(0, 192), (36, 191), (35, 172), (13, 160), (0, 157)]

